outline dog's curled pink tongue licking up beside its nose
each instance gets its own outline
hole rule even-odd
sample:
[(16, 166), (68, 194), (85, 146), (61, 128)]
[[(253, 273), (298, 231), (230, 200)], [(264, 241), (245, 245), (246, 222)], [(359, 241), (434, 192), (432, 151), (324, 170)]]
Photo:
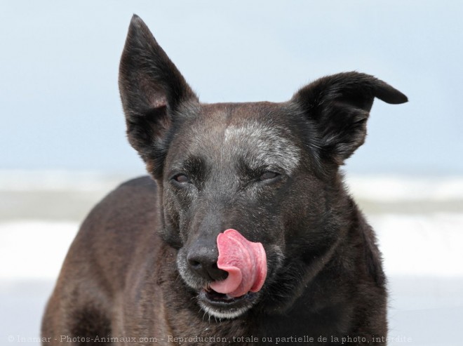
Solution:
[(267, 256), (262, 244), (248, 241), (235, 229), (227, 229), (217, 236), (217, 247), (217, 267), (228, 272), (228, 277), (214, 281), (210, 288), (231, 297), (262, 288), (267, 276)]

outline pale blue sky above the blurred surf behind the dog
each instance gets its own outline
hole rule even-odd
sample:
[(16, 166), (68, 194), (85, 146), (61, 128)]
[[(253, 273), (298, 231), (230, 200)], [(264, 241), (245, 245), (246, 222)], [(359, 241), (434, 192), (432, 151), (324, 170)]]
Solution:
[(396, 0), (0, 0), (0, 169), (143, 172), (117, 90), (133, 13), (205, 102), (374, 74), (410, 102), (375, 102), (346, 170), (463, 173), (463, 2)]

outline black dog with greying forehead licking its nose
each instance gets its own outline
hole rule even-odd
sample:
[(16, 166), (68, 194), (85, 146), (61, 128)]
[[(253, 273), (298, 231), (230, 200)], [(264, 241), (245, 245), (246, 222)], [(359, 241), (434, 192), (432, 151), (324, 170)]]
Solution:
[(385, 345), (375, 234), (340, 166), (373, 100), (407, 102), (344, 72), (287, 102), (205, 104), (133, 16), (119, 89), (149, 176), (81, 225), (43, 317), (69, 345)]

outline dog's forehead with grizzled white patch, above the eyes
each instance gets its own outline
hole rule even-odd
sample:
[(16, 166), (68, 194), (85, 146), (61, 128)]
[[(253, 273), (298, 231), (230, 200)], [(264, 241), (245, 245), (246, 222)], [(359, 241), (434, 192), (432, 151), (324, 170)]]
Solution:
[(187, 133), (190, 154), (214, 161), (246, 158), (251, 168), (279, 166), (287, 171), (300, 161), (295, 136), (279, 105), (271, 102), (202, 105)]

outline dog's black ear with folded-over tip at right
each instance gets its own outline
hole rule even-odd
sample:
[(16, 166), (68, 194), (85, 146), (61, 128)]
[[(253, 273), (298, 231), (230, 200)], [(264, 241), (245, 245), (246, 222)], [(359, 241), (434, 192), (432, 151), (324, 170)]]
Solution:
[(333, 74), (297, 91), (292, 102), (315, 125), (322, 159), (342, 164), (365, 141), (366, 121), (373, 100), (407, 102), (407, 97), (374, 76), (358, 72)]

